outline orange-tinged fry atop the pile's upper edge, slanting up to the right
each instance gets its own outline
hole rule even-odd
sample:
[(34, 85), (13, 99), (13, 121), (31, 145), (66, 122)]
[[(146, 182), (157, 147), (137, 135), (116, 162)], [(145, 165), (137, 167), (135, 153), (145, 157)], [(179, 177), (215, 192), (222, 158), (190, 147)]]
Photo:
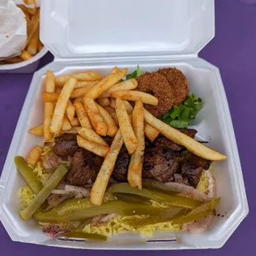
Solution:
[(116, 84), (120, 79), (126, 75), (127, 69), (121, 69), (116, 73), (110, 73), (106, 78), (103, 78), (100, 82), (94, 85), (88, 92), (86, 92), (85, 97), (92, 97), (96, 99), (103, 92), (106, 92), (114, 84)]

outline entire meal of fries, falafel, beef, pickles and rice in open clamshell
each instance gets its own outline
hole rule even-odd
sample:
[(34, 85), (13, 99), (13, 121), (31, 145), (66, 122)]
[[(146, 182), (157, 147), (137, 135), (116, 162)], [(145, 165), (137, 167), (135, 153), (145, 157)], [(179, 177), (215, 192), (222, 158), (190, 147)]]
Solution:
[[(187, 127), (201, 108), (175, 68), (46, 72), (44, 137), (15, 158), (23, 220), (50, 237), (106, 240), (123, 231), (206, 230), (220, 198), (210, 166), (225, 160)], [(161, 121), (162, 120), (162, 121)]]

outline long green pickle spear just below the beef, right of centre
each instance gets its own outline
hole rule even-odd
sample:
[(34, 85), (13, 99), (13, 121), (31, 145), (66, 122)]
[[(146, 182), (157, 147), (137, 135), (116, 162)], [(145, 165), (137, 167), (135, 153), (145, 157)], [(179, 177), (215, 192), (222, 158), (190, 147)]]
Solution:
[(187, 197), (181, 197), (174, 193), (167, 194), (164, 192), (159, 192), (157, 190), (151, 190), (149, 188), (142, 188), (140, 190), (138, 188), (130, 187), (128, 183), (117, 183), (115, 185), (112, 185), (109, 188), (108, 192), (111, 192), (114, 195), (115, 193), (135, 194), (140, 197), (147, 197), (155, 201), (164, 202), (169, 206), (176, 206), (188, 209), (193, 209), (201, 205), (201, 201), (197, 201)]

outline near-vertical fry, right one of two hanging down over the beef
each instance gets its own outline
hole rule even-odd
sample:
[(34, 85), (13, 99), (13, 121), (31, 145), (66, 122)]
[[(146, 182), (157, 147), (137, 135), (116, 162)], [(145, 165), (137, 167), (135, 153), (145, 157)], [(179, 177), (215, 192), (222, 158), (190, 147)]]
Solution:
[(144, 108), (141, 100), (135, 102), (135, 108), (131, 114), (131, 121), (135, 130), (138, 145), (135, 152), (131, 154), (127, 179), (130, 187), (138, 187), (141, 189), (141, 176), (145, 149)]

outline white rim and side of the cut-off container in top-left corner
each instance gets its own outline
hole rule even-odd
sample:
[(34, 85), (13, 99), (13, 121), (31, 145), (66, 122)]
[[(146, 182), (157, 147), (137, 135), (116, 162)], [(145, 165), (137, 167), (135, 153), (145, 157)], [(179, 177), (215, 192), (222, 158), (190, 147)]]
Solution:
[[(13, 1), (16, 4), (22, 4), (21, 0)], [(36, 1), (37, 6), (40, 6), (40, 1)], [(31, 59), (26, 59), (15, 64), (3, 64), (0, 65), (0, 73), (33, 73), (39, 66), (40, 59), (48, 52), (47, 48), (44, 47), (33, 56)]]

